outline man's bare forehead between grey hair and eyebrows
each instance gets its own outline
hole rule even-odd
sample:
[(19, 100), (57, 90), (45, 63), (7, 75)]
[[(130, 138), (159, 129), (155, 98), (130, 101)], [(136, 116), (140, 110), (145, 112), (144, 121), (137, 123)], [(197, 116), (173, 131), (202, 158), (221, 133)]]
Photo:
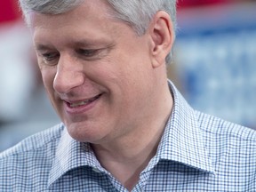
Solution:
[(70, 12), (57, 15), (31, 13), (34, 43), (36, 47), (41, 44), (65, 49), (70, 47), (70, 44), (81, 42), (87, 45), (108, 44), (122, 39), (127, 34), (137, 36), (133, 28), (112, 18), (108, 11), (108, 4), (93, 0), (86, 1)]

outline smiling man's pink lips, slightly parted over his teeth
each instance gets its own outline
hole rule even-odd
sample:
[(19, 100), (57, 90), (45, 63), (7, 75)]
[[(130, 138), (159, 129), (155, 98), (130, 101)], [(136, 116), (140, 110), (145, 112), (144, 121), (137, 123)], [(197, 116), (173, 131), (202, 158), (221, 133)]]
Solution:
[(79, 106), (76, 106), (76, 107), (71, 107), (71, 103), (79, 103), (79, 102), (82, 102), (84, 100), (74, 100), (74, 101), (63, 100), (64, 101), (64, 109), (68, 113), (68, 115), (71, 115), (71, 116), (81, 115), (81, 114), (84, 114), (84, 113), (92, 110), (92, 108), (94, 108), (95, 105), (99, 102), (101, 97), (102, 97), (102, 93), (96, 95), (94, 97), (94, 98), (96, 98), (95, 100), (92, 100), (92, 101), (90, 101), (90, 102), (88, 102), (84, 105), (79, 105)]

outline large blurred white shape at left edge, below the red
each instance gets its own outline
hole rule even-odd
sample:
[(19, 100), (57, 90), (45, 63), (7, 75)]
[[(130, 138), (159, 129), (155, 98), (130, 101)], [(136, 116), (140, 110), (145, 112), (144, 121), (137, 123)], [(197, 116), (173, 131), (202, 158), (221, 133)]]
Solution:
[(0, 28), (0, 120), (20, 120), (34, 86), (28, 28), (17, 22)]

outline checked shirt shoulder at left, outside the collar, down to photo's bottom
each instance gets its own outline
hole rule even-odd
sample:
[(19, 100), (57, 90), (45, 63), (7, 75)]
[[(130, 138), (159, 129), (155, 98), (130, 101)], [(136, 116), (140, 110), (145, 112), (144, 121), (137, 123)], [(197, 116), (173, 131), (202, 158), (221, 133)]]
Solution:
[(52, 160), (63, 124), (22, 140), (0, 154), (0, 191), (42, 191), (47, 187)]

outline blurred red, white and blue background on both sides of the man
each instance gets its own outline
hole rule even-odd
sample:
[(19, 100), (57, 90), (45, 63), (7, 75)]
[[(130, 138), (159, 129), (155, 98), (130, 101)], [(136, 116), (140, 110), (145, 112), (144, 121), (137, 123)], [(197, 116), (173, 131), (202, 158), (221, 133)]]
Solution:
[[(256, 2), (180, 0), (168, 76), (194, 108), (256, 129)], [(0, 151), (60, 122), (17, 0), (0, 2)]]

